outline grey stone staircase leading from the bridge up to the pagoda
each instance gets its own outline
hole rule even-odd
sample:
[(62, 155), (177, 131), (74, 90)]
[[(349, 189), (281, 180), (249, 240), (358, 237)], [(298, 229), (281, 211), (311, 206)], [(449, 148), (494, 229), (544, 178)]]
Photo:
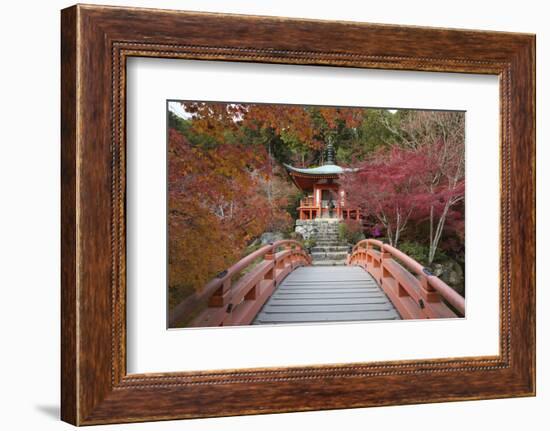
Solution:
[(315, 247), (311, 249), (313, 265), (345, 265), (348, 245), (338, 239), (338, 221), (316, 220)]

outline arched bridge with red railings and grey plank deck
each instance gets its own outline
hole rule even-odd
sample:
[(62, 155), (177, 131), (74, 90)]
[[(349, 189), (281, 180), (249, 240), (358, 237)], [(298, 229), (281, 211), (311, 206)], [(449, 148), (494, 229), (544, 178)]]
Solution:
[[(172, 310), (170, 323), (206, 308), (189, 326), (433, 319), (464, 316), (464, 298), (381, 241), (350, 250), (345, 266), (312, 266), (293, 240), (266, 245), (218, 274)], [(238, 279), (237, 279), (238, 277)]]

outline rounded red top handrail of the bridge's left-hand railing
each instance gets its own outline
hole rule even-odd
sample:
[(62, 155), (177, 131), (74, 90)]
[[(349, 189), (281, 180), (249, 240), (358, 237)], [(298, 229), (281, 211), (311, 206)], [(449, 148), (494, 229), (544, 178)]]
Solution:
[[(296, 240), (287, 239), (276, 241), (272, 244), (267, 244), (243, 257), (238, 262), (231, 265), (227, 270), (220, 272), (216, 277), (206, 283), (200, 291), (195, 291), (193, 294), (176, 305), (170, 313), (170, 326), (175, 325), (182, 319), (183, 316), (192, 312), (199, 303), (204, 301), (206, 298), (211, 298), (220, 289), (223, 290), (224, 287), (225, 290), (231, 289), (232, 278), (236, 274), (239, 274), (243, 269), (254, 263), (257, 259), (264, 257), (266, 260), (272, 259), (274, 263), (277, 263), (277, 250), (283, 246), (289, 250), (295, 250), (295, 253), (293, 254), (294, 256), (302, 255), (303, 261), (307, 264), (311, 264), (311, 256), (309, 256), (309, 254), (304, 250), (302, 244)], [(279, 257), (284, 259), (285, 257), (288, 257), (288, 255)]]

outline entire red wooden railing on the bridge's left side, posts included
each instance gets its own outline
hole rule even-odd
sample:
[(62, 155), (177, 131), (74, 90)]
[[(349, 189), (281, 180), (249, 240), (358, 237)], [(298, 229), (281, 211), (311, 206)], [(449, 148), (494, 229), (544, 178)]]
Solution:
[[(188, 326), (248, 325), (290, 272), (310, 264), (311, 256), (298, 241), (282, 240), (265, 245), (219, 273), (203, 289), (174, 307), (170, 326), (193, 313), (206, 299), (207, 308)], [(252, 267), (250, 271), (234, 280), (248, 267)]]

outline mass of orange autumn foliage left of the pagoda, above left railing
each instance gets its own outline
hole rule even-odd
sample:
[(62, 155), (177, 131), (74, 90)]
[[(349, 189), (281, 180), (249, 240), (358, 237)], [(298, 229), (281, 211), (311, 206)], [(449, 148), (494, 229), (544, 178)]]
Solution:
[(168, 152), (169, 285), (200, 289), (284, 214), (262, 191), (262, 148), (193, 147), (170, 129)]

